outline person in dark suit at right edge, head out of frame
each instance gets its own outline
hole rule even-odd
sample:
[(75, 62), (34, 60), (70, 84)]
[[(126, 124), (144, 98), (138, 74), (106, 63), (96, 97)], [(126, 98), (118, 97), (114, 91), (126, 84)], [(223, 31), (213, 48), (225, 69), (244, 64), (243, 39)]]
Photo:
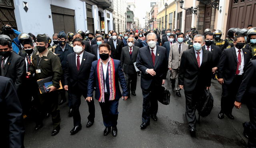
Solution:
[(256, 147), (256, 60), (251, 60), (248, 63), (246, 72), (242, 83), (238, 89), (236, 95), (236, 101), (234, 103), (237, 109), (242, 106), (241, 102), (246, 102), (249, 110), (250, 122), (244, 122), (244, 136), (249, 138), (248, 147)]

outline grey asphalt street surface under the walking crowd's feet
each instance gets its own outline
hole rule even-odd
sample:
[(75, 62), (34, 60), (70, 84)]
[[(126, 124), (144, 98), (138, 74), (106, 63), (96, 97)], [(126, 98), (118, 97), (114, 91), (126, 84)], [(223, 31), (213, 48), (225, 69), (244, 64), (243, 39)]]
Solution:
[[(169, 75), (169, 73), (168, 73)], [(176, 82), (177, 83), (177, 82)], [(242, 123), (249, 120), (248, 109), (242, 105), (241, 109), (233, 109), (234, 120), (225, 116), (218, 119), (220, 111), (221, 85), (212, 80), (210, 92), (214, 97), (214, 108), (207, 117), (200, 118), (196, 124), (196, 137), (191, 137), (185, 118), (185, 97), (177, 97), (170, 88), (170, 80), (165, 85), (171, 92), (170, 105), (158, 103), (158, 121), (151, 120), (150, 125), (140, 129), (142, 123), (142, 90), (140, 77), (137, 80), (136, 96), (127, 101), (120, 99), (118, 107), (118, 135), (113, 137), (103, 135), (104, 124), (99, 103), (95, 101), (95, 122), (86, 128), (88, 121), (88, 105), (82, 97), (80, 114), (82, 130), (70, 135), (73, 128), (73, 118), (68, 117), (68, 105), (60, 106), (61, 130), (56, 136), (51, 136), (51, 117), (44, 120), (44, 126), (34, 130), (35, 123), (29, 118), (25, 120), (26, 148), (240, 148), (244, 147), (247, 139), (243, 136)], [(197, 117), (198, 114), (196, 113)]]

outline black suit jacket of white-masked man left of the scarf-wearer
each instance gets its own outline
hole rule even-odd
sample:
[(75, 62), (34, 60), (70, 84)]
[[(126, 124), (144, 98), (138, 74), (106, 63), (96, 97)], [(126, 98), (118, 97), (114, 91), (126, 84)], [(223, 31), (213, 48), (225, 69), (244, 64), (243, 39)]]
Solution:
[(87, 91), (88, 79), (95, 55), (84, 51), (79, 71), (76, 67), (76, 53), (67, 56), (67, 68), (64, 69), (64, 85), (72, 91)]

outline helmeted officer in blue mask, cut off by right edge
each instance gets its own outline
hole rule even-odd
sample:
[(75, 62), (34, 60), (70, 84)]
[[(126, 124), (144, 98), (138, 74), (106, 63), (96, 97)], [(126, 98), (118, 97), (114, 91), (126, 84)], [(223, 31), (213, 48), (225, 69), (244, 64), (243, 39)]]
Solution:
[(250, 43), (248, 43), (245, 48), (250, 51), (250, 58), (256, 59), (256, 27), (248, 30), (247, 36)]

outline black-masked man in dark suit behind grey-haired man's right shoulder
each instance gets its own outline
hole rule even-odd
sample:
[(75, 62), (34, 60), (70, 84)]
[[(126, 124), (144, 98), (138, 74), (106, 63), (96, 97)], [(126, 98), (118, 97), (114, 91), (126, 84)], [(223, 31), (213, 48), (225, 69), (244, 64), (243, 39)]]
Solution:
[(208, 51), (212, 52), (212, 60), (213, 60), (213, 68), (212, 68), (212, 79), (215, 79), (215, 73), (218, 69), (217, 65), (220, 60), (221, 56), (221, 50), (220, 47), (213, 45), (213, 34), (212, 32), (207, 32), (205, 35), (205, 45), (202, 47), (203, 49), (206, 49)]

